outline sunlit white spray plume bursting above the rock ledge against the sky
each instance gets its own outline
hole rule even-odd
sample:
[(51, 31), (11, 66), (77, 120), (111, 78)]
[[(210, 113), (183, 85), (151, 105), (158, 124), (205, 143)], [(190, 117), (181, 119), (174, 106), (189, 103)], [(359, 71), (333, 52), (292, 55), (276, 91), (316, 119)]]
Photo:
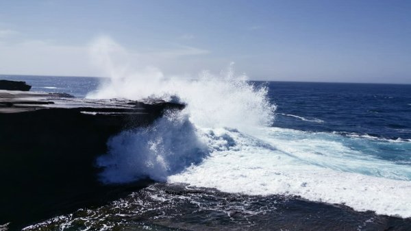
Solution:
[(169, 101), (177, 96), (187, 104), (185, 112), (190, 121), (202, 127), (251, 130), (273, 121), (275, 106), (267, 99), (267, 88), (257, 88), (245, 75), (235, 75), (233, 64), (219, 75), (203, 71), (195, 80), (187, 80), (166, 77), (153, 66), (131, 69), (123, 60), (125, 49), (109, 38), (97, 40), (91, 51), (95, 64), (103, 66), (110, 80), (89, 98), (156, 97)]

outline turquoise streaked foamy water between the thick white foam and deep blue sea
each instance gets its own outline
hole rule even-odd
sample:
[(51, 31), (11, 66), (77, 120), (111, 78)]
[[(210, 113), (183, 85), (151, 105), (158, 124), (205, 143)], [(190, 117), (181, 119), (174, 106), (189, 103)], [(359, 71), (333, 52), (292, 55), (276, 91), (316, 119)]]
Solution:
[[(351, 138), (327, 132), (302, 132), (298, 130), (268, 127), (259, 128), (253, 135), (273, 145), (305, 165), (373, 175), (393, 180), (411, 180), (411, 168), (379, 158), (374, 140)], [(398, 143), (399, 145), (408, 143)], [(386, 145), (395, 145), (386, 143)]]

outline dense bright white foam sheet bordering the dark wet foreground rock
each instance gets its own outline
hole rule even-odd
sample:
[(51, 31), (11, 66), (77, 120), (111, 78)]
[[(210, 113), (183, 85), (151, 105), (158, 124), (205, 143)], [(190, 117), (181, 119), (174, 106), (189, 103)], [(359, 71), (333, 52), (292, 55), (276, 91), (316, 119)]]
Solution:
[[(277, 132), (279, 130), (275, 129)], [(306, 156), (301, 156), (302, 152), (284, 150), (286, 146), (291, 148), (297, 145), (297, 139), (290, 143), (282, 141), (282, 145), (273, 146), (260, 138), (238, 132), (225, 131), (225, 136), (233, 138), (232, 142), (236, 145), (213, 151), (201, 165), (189, 167), (184, 173), (171, 175), (169, 182), (211, 187), (228, 193), (297, 195), (316, 202), (345, 204), (359, 211), (373, 210), (381, 215), (411, 217), (410, 181), (338, 169), (338, 155), (334, 153), (328, 154), (329, 167), (315, 165), (310, 160), (311, 156), (322, 155), (307, 153)], [(299, 142), (306, 145), (307, 149), (313, 145), (308, 140)], [(327, 145), (327, 142), (323, 144)], [(294, 147), (295, 150), (301, 148), (301, 145)], [(314, 147), (313, 150), (321, 149)], [(335, 149), (335, 152), (340, 150)], [(340, 167), (356, 165), (357, 160), (351, 161), (351, 158), (340, 156)], [(372, 165), (375, 161), (370, 159), (368, 164)], [(367, 160), (360, 160), (351, 169), (362, 169), (364, 163)], [(394, 166), (389, 162), (385, 164)], [(402, 170), (407, 169), (409, 167), (403, 166)]]

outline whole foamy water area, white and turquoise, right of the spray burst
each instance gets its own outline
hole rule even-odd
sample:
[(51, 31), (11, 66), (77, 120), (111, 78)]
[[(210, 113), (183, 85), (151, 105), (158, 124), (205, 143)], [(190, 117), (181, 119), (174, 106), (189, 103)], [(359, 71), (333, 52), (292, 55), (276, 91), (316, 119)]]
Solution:
[[(358, 211), (411, 217), (410, 166), (349, 151), (338, 142), (341, 137), (337, 135), (334, 141), (321, 141), (308, 134), (300, 139), (300, 131), (270, 130), (259, 130), (258, 136), (221, 130), (216, 137), (235, 145), (214, 145), (219, 148), (201, 165), (171, 175), (169, 182), (228, 193), (296, 195), (316, 202), (345, 204)], [(271, 137), (271, 132), (288, 135), (278, 139)]]

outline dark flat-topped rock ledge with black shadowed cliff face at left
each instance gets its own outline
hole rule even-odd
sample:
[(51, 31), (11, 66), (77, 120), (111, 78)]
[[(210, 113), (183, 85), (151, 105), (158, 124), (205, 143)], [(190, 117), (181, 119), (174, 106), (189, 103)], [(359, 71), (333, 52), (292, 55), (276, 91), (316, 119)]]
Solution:
[[(0, 224), (25, 224), (116, 197), (97, 180), (110, 136), (182, 104), (0, 90)], [(113, 193), (114, 192), (114, 193)]]

